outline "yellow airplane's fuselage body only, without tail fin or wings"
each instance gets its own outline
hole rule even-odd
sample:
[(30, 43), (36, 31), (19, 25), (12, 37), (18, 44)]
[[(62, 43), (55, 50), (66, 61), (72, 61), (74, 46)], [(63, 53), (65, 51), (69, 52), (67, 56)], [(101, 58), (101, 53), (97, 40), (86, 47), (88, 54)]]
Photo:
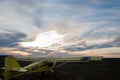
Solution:
[(28, 66), (21, 68), (21, 69), (26, 70), (24, 72), (9, 71), (9, 70), (5, 71), (5, 73), (7, 73), (7, 75), (5, 75), (4, 78), (9, 79), (9, 78), (14, 78), (14, 77), (27, 75), (27, 74), (31, 74), (31, 73), (44, 72), (44, 71), (52, 69), (53, 67), (54, 67), (53, 62), (45, 62), (45, 61), (34, 62)]

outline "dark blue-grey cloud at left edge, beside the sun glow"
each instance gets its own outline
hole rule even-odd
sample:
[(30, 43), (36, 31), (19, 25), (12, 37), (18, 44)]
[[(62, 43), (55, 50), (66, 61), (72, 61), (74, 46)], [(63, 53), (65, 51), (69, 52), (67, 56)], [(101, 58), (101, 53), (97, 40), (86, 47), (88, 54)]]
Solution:
[(26, 37), (24, 33), (0, 33), (0, 47), (15, 47)]

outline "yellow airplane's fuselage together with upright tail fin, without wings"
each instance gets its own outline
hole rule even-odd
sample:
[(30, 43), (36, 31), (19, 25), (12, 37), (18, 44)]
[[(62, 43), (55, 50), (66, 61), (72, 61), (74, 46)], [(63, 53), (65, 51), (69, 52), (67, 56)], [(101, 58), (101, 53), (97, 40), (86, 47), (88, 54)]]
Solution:
[(17, 62), (17, 60), (13, 56), (2, 56), (4, 60), (2, 63), (4, 64), (1, 67), (3, 71), (3, 79), (1, 80), (9, 80), (14, 77), (37, 73), (37, 72), (44, 72), (46, 70), (50, 70), (54, 75), (56, 72), (53, 71), (53, 68), (56, 66), (56, 62), (48, 62), (48, 61), (38, 61), (33, 62), (25, 67), (21, 67), (21, 65)]

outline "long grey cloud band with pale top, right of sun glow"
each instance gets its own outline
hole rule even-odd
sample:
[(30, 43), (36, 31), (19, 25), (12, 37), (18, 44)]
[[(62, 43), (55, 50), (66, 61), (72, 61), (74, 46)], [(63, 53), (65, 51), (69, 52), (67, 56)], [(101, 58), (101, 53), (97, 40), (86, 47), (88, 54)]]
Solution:
[(93, 41), (82, 40), (82, 42), (65, 47), (64, 50), (74, 52), (74, 51), (85, 51), (85, 50), (90, 50), (90, 49), (120, 47), (119, 38), (120, 38), (119, 36), (116, 36), (116, 37), (112, 37), (111, 39), (106, 39), (106, 40), (102, 40), (102, 39), (100, 40), (94, 39)]

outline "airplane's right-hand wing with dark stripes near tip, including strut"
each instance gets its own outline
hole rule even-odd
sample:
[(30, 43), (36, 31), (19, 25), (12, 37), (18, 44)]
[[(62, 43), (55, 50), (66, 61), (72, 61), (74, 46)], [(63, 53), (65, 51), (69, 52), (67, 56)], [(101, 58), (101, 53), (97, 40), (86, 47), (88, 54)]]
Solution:
[(102, 56), (85, 56), (85, 57), (68, 57), (68, 58), (47, 58), (47, 61), (56, 61), (56, 68), (63, 66), (69, 62), (91, 62), (91, 61), (101, 61)]

